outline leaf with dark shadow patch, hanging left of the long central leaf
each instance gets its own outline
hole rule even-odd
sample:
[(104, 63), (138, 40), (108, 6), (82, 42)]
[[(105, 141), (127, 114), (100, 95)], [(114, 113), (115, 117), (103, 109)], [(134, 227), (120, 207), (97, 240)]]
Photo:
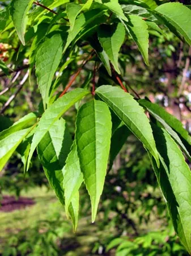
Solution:
[(62, 168), (70, 152), (72, 141), (66, 122), (62, 118), (54, 122), (40, 141), (37, 152), (45, 175), (61, 204), (64, 205)]

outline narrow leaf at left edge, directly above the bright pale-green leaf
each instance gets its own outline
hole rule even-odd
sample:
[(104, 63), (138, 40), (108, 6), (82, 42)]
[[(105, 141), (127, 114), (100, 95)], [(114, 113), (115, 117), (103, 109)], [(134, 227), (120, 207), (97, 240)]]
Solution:
[(12, 133), (15, 133), (15, 131), (19, 131), (22, 129), (26, 129), (37, 122), (37, 114), (36, 113), (29, 113), (25, 115), (24, 117), (20, 118), (18, 122), (15, 122), (12, 126), (10, 126), (8, 129), (3, 130), (0, 133), (0, 141), (7, 136), (9, 136)]

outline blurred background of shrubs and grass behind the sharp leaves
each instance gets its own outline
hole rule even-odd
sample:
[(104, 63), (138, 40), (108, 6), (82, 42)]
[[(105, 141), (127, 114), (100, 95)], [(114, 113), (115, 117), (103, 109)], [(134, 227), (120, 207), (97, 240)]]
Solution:
[[(9, 1), (1, 1), (1, 9), (7, 3)], [(39, 36), (43, 36), (42, 32), (48, 28), (46, 19), (49, 20), (48, 13), (44, 16), (44, 22), (37, 27)], [(190, 132), (191, 50), (166, 28), (162, 27), (162, 31), (161, 34), (149, 28), (149, 68), (143, 63), (137, 46), (130, 38), (126, 39), (120, 52), (122, 76), (133, 89), (132, 94), (135, 91), (141, 97), (146, 96), (162, 105), (179, 118)], [(33, 33), (33, 28), (27, 32), (27, 46), (32, 43)], [(0, 129), (9, 127), (27, 114), (29, 109), (34, 111), (41, 108), (34, 71), (18, 92), (19, 83), (29, 67), (27, 46), (20, 44), (16, 34), (9, 35), (9, 31), (1, 34), (1, 109), (12, 94), (17, 93), (11, 104), (1, 112), (7, 119), (3, 117), (1, 121), (0, 117)], [(84, 39), (79, 41), (78, 46), (68, 52), (71, 62), (66, 71), (56, 74), (59, 85), (57, 93), (65, 88), (83, 60), (84, 53), (90, 50)], [(5, 73), (8, 75), (5, 76)], [(90, 61), (75, 80), (73, 88), (79, 84), (86, 87), (91, 80)], [(96, 81), (97, 85), (111, 84), (103, 67), (100, 67)], [(76, 105), (65, 115), (71, 134), (75, 130), (77, 109)], [(29, 172), (23, 174), (18, 148), (0, 174), (0, 255), (188, 255), (173, 230), (146, 151), (133, 135), (128, 137), (108, 172), (95, 224), (91, 224), (87, 192), (82, 187), (80, 193), (82, 219), (74, 234), (63, 207), (49, 187), (39, 159), (34, 156)], [(29, 197), (34, 204), (4, 212), (3, 199), (7, 195), (15, 196), (18, 202), (20, 196)]]

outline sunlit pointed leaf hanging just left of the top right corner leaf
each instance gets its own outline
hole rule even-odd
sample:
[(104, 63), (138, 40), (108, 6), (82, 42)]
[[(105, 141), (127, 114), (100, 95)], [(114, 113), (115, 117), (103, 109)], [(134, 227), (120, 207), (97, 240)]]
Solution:
[(148, 26), (145, 20), (136, 15), (129, 15), (129, 22), (126, 23), (128, 32), (137, 44), (145, 63), (148, 64)]

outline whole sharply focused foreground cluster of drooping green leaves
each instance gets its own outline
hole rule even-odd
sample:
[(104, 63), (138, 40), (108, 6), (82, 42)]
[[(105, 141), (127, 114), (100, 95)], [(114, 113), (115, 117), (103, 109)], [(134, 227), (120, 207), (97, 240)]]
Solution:
[[(130, 37), (148, 65), (149, 27), (163, 33), (159, 25), (166, 26), (191, 44), (190, 17), (189, 6), (158, 6), (152, 0), (88, 0), (81, 4), (12, 0), (0, 13), (0, 29), (5, 40), (7, 33), (18, 34), (23, 44), (18, 55), (24, 52), (28, 57), (30, 74), (35, 65), (42, 102), (39, 112), (29, 113), (0, 133), (0, 168), (20, 145), (27, 171), (37, 148), (46, 177), (76, 230), (80, 186), (84, 183), (90, 195), (94, 222), (108, 159), (111, 168), (126, 138), (133, 133), (150, 156), (173, 226), (191, 253), (191, 173), (181, 152), (191, 159), (191, 138), (181, 122), (158, 105), (134, 99), (121, 81), (118, 65), (120, 48)], [(63, 92), (58, 92), (70, 64), (77, 60), (83, 60), (82, 65)], [(94, 71), (89, 72), (82, 88), (67, 92), (90, 60), (95, 63)], [(99, 80), (96, 86), (96, 73), (99, 76), (103, 68), (107, 85)], [(54, 79), (57, 70), (60, 75)], [(117, 82), (121, 88), (112, 86)], [(73, 105), (78, 110), (74, 139), (62, 118)]]

